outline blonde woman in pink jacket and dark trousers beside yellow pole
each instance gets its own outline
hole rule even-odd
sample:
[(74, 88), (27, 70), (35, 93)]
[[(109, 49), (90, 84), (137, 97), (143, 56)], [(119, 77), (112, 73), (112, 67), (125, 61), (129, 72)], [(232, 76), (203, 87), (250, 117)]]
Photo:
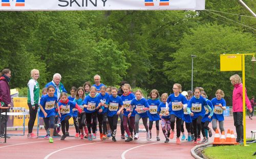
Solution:
[[(243, 143), (243, 84), (241, 77), (238, 74), (232, 75), (229, 80), (231, 84), (234, 86), (233, 96), (232, 96), (232, 112), (234, 119), (234, 126), (236, 126), (237, 131), (237, 142)], [(247, 105), (250, 113), (252, 112), (250, 101), (247, 97), (246, 89), (245, 89), (245, 103)]]

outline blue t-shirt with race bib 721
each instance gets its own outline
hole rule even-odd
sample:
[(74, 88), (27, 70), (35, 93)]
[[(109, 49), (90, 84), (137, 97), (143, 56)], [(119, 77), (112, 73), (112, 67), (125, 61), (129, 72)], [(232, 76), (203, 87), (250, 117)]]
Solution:
[(116, 115), (117, 111), (119, 110), (119, 106), (123, 105), (123, 101), (120, 96), (114, 97), (110, 95), (110, 104), (108, 109), (108, 117), (113, 117)]

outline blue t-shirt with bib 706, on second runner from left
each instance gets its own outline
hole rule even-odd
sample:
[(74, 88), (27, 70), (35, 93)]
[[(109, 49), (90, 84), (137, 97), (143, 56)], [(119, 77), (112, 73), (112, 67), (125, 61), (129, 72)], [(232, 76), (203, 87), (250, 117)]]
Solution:
[(70, 117), (72, 116), (72, 113), (73, 113), (72, 110), (76, 107), (76, 103), (74, 101), (69, 100), (67, 104), (59, 101), (58, 104), (59, 104), (60, 114), (61, 114), (60, 121), (65, 120), (66, 116), (70, 116)]

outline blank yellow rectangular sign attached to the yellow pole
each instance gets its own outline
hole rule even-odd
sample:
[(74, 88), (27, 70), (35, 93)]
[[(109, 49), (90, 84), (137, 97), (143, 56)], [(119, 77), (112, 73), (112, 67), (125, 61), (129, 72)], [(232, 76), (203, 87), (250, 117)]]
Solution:
[(242, 71), (242, 55), (221, 55), (221, 71)]

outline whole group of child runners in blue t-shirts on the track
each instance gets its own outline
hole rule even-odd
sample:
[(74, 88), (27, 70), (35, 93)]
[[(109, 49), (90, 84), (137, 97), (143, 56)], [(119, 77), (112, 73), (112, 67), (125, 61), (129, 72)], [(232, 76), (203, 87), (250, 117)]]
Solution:
[[(118, 96), (116, 87), (101, 86), (97, 91), (96, 87), (90, 82), (86, 82), (83, 87), (76, 89), (72, 87), (70, 96), (62, 92), (59, 101), (54, 95), (54, 87), (49, 86), (42, 91), (43, 94), (39, 103), (39, 116), (44, 118), (45, 128), (50, 134), (52, 143), (53, 128), (57, 131), (62, 130), (60, 140), (65, 140), (69, 136), (69, 119), (73, 117), (76, 129), (75, 138), (88, 138), (92, 141), (96, 138), (97, 121), (99, 126), (100, 140), (106, 140), (112, 137), (116, 142), (118, 116), (123, 114), (122, 125), (126, 132), (125, 142), (139, 139), (139, 121), (142, 119), (146, 130), (146, 140), (152, 138), (153, 122), (156, 124), (156, 140), (159, 137), (159, 121), (161, 120), (162, 132), (165, 137), (165, 143), (173, 139), (175, 135), (176, 123), (176, 143), (181, 140), (188, 142), (194, 141), (197, 144), (208, 141), (212, 136), (211, 128), (208, 124), (212, 122), (212, 128), (217, 129), (217, 121), (221, 131), (224, 131), (223, 111), (226, 109), (226, 102), (223, 99), (224, 92), (217, 90), (216, 98), (207, 99), (203, 88), (196, 87), (194, 96), (191, 91), (181, 92), (181, 85), (174, 84), (173, 94), (167, 93), (159, 95), (157, 90), (152, 90), (148, 99), (143, 97), (141, 90), (132, 92), (129, 84), (122, 86), (123, 94)], [(54, 117), (59, 116), (60, 123), (54, 123)], [(149, 126), (147, 120), (149, 119)], [(184, 134), (184, 122), (188, 133), (187, 139)], [(108, 125), (111, 133), (108, 131)], [(182, 137), (181, 137), (182, 134)], [(180, 139), (181, 137), (181, 139)]]

